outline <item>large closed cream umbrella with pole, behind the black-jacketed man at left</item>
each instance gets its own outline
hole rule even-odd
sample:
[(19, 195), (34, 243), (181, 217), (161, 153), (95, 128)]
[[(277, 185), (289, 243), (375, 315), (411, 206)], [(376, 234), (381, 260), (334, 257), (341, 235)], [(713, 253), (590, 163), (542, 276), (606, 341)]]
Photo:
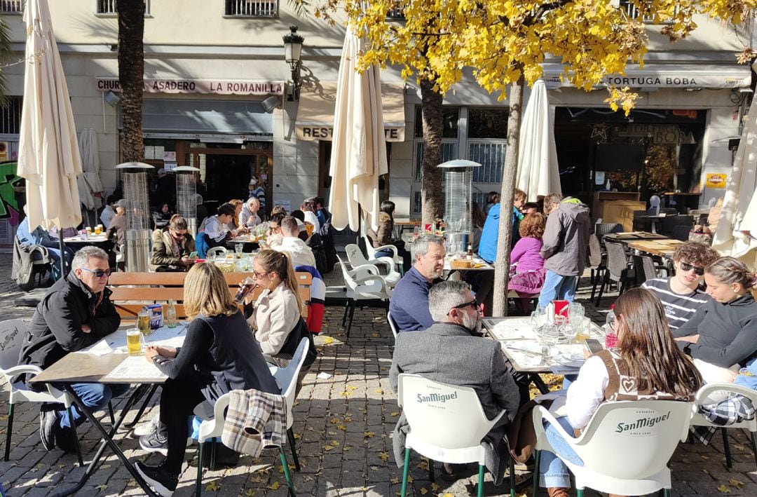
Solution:
[(76, 227), (82, 220), (76, 185), (76, 176), (82, 173), (76, 127), (47, 0), (26, 0), (23, 20), (26, 71), (18, 175), (26, 179), (30, 229), (58, 227), (63, 252), (63, 229)]

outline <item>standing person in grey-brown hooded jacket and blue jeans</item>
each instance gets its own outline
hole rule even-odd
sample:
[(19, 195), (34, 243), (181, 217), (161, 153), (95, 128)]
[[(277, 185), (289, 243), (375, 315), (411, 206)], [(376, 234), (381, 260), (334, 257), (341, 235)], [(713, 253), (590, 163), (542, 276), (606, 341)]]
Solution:
[(541, 257), (547, 277), (541, 287), (539, 305), (547, 306), (553, 300), (573, 302), (578, 278), (586, 267), (589, 246), (589, 208), (578, 198), (565, 198), (553, 193), (544, 198), (550, 208), (547, 227), (544, 228)]

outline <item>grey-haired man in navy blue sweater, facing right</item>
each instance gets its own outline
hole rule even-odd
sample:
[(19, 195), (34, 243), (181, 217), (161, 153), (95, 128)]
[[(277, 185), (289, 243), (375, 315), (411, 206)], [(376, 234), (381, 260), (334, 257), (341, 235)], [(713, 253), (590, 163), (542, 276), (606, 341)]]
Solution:
[(425, 330), (434, 324), (428, 311), (428, 290), (444, 270), (444, 239), (425, 233), (413, 242), (415, 262), (394, 287), (389, 312), (400, 331)]

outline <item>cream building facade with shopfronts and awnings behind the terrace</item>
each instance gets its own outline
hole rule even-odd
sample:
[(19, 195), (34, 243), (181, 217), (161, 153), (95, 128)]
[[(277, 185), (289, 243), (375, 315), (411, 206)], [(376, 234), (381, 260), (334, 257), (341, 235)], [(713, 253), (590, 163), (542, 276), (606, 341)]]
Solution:
[[(0, 0), (19, 59), (25, 38), (21, 3)], [(49, 4), (76, 128), (97, 134), (107, 195), (117, 186), (114, 166), (123, 152), (116, 2)], [(199, 167), (211, 211), (229, 198), (246, 197), (252, 173), (265, 180), (269, 208), (276, 203), (298, 208), (313, 195), (328, 198), (344, 27), (298, 17), (288, 2), (277, 0), (147, 0), (146, 7), (145, 161), (156, 168)], [(305, 38), (298, 99), (289, 98), (291, 70), (282, 43), (293, 24)], [(693, 192), (695, 205), (724, 192), (715, 183), (705, 186), (706, 179), (730, 174), (728, 139), (740, 133), (752, 89), (749, 67), (737, 65), (734, 55), (751, 41), (752, 30), (733, 33), (705, 19), (699, 25), (690, 39), (675, 45), (659, 35), (659, 26), (650, 25), (643, 69), (629, 67), (625, 75), (608, 78), (640, 90), (643, 98), (629, 117), (609, 110), (603, 89), (584, 92), (564, 86), (559, 64), (545, 64), (563, 192), (590, 198), (610, 180), (611, 188)], [(13, 159), (24, 64), (4, 70), (13, 105), (0, 123), (0, 142), (7, 145), (6, 158)], [(413, 217), (420, 213), (420, 91), (390, 67), (382, 71), (382, 93), (389, 158), (382, 188), (385, 198), (397, 204), (397, 216)], [(497, 102), (466, 73), (445, 96), (444, 106), (444, 160), (483, 164), (473, 185), (475, 200), (482, 202), (487, 192), (500, 189), (507, 102)], [(622, 161), (612, 154), (620, 150)], [(655, 172), (661, 176), (656, 183), (650, 180), (652, 170), (645, 169), (650, 161), (668, 164), (667, 173)], [(634, 179), (628, 180), (629, 172)]]

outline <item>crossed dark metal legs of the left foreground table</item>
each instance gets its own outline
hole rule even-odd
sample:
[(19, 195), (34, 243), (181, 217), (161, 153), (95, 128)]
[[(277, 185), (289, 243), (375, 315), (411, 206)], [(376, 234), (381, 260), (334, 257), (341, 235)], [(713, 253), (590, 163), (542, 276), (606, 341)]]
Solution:
[(71, 489), (64, 490), (63, 492), (55, 494), (54, 497), (66, 497), (67, 495), (73, 495), (74, 493), (82, 489), (85, 483), (87, 483), (87, 480), (89, 480), (89, 477), (92, 477), (92, 474), (95, 473), (95, 468), (97, 467), (98, 462), (100, 461), (100, 458), (105, 451), (106, 445), (110, 446), (114, 454), (118, 456), (121, 462), (123, 462), (124, 466), (126, 466), (126, 470), (129, 470), (129, 474), (134, 477), (139, 486), (142, 487), (142, 490), (145, 491), (145, 495), (149, 495), (150, 497), (157, 497), (157, 494), (152, 491), (147, 483), (145, 483), (145, 480), (142, 480), (142, 477), (139, 476), (139, 473), (137, 473), (137, 470), (135, 469), (131, 461), (129, 461), (129, 458), (126, 458), (126, 455), (123, 454), (121, 449), (119, 449), (118, 444), (113, 440), (113, 436), (116, 434), (118, 427), (120, 427), (121, 423), (123, 422), (123, 418), (126, 417), (126, 414), (129, 412), (129, 410), (136, 404), (136, 402), (139, 401), (139, 399), (142, 398), (142, 395), (147, 392), (150, 386), (151, 385), (149, 384), (142, 384), (137, 386), (137, 388), (134, 390), (134, 393), (132, 393), (132, 396), (129, 397), (129, 400), (126, 401), (126, 405), (123, 406), (121, 414), (116, 420), (116, 423), (111, 428), (110, 433), (108, 433), (107, 430), (105, 430), (105, 428), (102, 426), (102, 424), (95, 418), (95, 416), (92, 414), (92, 411), (90, 411), (89, 408), (84, 405), (84, 402), (82, 402), (82, 399), (79, 398), (79, 395), (76, 395), (76, 392), (73, 390), (73, 388), (68, 384), (65, 386), (66, 391), (71, 394), (73, 402), (74, 404), (76, 404), (76, 408), (78, 408), (79, 411), (81, 411), (86, 416), (89, 422), (95, 425), (95, 428), (97, 428), (97, 430), (101, 433), (102, 443), (100, 444), (98, 451), (95, 453), (95, 457), (92, 458), (89, 466), (87, 466), (87, 469), (82, 475), (81, 480), (79, 480), (79, 483), (77, 483), (76, 486), (73, 486)]

